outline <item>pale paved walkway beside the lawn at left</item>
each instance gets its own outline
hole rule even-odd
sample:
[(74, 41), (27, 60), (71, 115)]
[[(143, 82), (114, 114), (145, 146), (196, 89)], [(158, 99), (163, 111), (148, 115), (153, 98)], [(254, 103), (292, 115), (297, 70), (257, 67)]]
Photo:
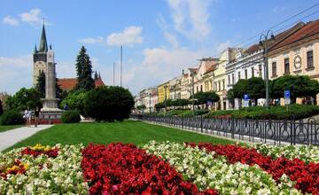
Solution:
[(33, 126), (32, 128), (22, 127), (4, 131), (0, 133), (0, 152), (28, 136), (34, 135), (36, 132), (51, 128), (52, 126), (53, 125), (39, 125), (37, 128)]

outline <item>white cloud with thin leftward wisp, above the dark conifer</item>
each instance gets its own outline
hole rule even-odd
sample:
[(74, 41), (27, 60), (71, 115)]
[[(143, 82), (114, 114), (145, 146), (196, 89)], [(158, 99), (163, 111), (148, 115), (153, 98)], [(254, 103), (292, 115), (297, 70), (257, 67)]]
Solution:
[(86, 37), (80, 39), (80, 43), (88, 43), (88, 44), (107, 44), (110, 46), (120, 46), (120, 45), (128, 45), (133, 46), (137, 43), (143, 43), (144, 37), (142, 34), (143, 27), (126, 27), (121, 33), (113, 33), (108, 35), (107, 37), (97, 36), (97, 37)]

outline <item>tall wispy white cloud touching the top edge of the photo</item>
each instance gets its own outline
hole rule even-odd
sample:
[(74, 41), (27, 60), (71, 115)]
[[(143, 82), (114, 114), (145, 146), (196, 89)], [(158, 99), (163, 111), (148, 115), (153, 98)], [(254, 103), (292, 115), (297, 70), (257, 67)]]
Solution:
[(167, 0), (175, 30), (191, 40), (204, 40), (211, 32), (209, 7), (211, 0)]

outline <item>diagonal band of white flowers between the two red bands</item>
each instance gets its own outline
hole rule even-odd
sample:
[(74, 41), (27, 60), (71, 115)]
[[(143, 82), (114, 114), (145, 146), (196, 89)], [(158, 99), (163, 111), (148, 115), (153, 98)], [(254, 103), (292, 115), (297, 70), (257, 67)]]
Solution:
[(225, 157), (215, 156), (198, 147), (187, 147), (176, 143), (144, 145), (144, 150), (167, 160), (187, 181), (198, 185), (199, 190), (214, 188), (221, 194), (298, 194), (292, 183), (286, 179), (278, 185), (276, 181), (258, 166), (237, 162), (229, 164)]

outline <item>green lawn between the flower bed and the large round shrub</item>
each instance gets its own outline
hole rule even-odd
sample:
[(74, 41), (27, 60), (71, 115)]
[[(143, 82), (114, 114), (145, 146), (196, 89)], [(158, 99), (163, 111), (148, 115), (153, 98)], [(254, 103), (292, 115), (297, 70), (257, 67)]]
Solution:
[(146, 144), (151, 140), (172, 142), (213, 142), (230, 144), (229, 140), (204, 136), (179, 129), (166, 128), (141, 121), (110, 123), (60, 124), (45, 129), (27, 139), (14, 144), (11, 148), (34, 145), (37, 143), (61, 144), (108, 144), (112, 142)]

